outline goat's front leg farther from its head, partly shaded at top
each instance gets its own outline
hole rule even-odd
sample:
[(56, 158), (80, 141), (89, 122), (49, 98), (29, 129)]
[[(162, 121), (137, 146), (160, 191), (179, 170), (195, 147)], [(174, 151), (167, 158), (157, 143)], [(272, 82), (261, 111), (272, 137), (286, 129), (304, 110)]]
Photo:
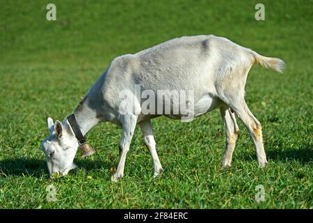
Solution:
[(159, 156), (155, 148), (156, 143), (154, 141), (153, 130), (152, 130), (150, 119), (142, 121), (141, 123), (139, 123), (139, 126), (141, 127), (141, 132), (143, 132), (143, 140), (145, 141), (145, 145), (149, 149), (150, 155), (153, 160), (153, 165), (154, 165), (153, 177), (156, 178), (163, 171), (163, 168), (161, 166), (161, 162), (159, 160)]

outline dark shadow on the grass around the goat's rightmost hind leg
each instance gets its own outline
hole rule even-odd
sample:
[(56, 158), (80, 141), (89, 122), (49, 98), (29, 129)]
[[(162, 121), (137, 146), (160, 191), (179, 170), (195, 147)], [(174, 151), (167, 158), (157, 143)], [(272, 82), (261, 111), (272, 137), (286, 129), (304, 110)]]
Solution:
[[(312, 146), (307, 145), (302, 148), (280, 148), (267, 150), (266, 156), (268, 160), (274, 160), (278, 162), (296, 161), (300, 164), (313, 164), (313, 150)], [(255, 160), (257, 155), (254, 153), (243, 155), (243, 160)]]

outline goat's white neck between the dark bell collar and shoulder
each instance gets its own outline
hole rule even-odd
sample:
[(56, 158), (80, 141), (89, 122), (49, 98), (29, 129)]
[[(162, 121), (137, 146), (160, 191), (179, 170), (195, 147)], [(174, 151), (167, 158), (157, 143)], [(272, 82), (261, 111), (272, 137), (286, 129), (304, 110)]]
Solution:
[(79, 107), (75, 109), (74, 116), (83, 135), (86, 134), (95, 125), (97, 125), (97, 123), (99, 123), (97, 113), (94, 109), (88, 107), (86, 103), (80, 104)]

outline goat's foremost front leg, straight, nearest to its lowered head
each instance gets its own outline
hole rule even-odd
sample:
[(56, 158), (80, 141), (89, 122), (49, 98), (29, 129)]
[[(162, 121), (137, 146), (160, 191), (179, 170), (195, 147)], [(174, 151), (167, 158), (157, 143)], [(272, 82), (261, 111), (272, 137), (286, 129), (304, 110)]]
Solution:
[(118, 162), (118, 168), (115, 174), (111, 177), (113, 182), (116, 182), (118, 178), (122, 178), (125, 168), (125, 160), (129, 146), (131, 144), (131, 138), (134, 135), (136, 128), (137, 116), (133, 114), (126, 114), (121, 117), (122, 121), (122, 139), (120, 139), (120, 160)]

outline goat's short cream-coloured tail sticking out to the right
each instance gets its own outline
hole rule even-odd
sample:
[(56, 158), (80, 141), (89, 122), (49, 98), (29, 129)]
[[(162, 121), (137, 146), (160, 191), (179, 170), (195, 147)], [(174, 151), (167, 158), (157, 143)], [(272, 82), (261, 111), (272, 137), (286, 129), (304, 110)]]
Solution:
[(255, 63), (259, 63), (259, 65), (264, 66), (264, 68), (272, 68), (273, 70), (281, 73), (282, 70), (284, 70), (285, 63), (281, 59), (275, 57), (261, 56), (257, 54), (257, 52), (254, 52), (252, 50), (250, 53), (254, 57)]

